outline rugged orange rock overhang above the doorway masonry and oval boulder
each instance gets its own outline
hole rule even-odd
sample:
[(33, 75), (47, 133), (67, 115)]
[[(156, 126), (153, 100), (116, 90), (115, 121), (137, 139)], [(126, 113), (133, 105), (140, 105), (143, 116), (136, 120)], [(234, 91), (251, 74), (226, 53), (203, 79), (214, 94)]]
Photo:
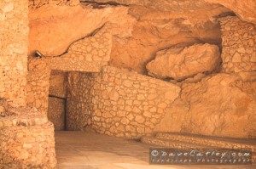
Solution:
[(170, 3), (167, 8), (166, 2), (154, 2), (152, 8), (83, 3), (83, 8), (44, 5), (31, 9), (29, 54), (36, 49), (47, 56), (63, 54), (72, 42), (88, 36), (106, 22), (112, 23), (113, 35), (109, 64), (144, 74), (145, 65), (161, 49), (180, 43), (221, 45), (215, 19), (231, 12), (228, 8), (203, 1), (167, 3)]

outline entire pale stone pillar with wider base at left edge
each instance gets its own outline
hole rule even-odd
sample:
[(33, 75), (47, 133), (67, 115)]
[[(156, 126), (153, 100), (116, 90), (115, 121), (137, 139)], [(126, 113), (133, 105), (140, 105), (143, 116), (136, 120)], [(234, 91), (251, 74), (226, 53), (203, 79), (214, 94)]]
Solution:
[[(52, 123), (45, 112), (26, 107), (27, 14), (28, 1), (0, 3), (0, 168), (54, 168), (56, 165)], [(32, 84), (33, 89), (38, 79), (32, 82), (30, 77), (28, 86)]]

